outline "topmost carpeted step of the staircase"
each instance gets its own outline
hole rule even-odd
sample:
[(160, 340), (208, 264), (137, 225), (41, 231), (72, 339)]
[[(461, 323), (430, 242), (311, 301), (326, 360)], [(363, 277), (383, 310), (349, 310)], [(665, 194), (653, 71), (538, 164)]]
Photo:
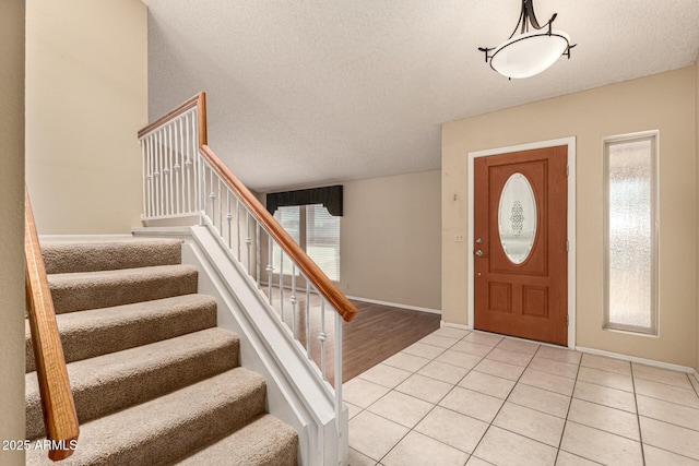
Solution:
[(47, 274), (97, 272), (181, 262), (179, 239), (126, 238), (96, 241), (42, 241)]

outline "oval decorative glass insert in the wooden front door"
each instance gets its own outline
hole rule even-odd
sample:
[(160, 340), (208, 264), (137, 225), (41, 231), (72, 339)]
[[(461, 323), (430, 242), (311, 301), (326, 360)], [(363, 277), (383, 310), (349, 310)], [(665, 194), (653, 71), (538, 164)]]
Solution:
[(536, 199), (526, 177), (512, 174), (502, 188), (498, 205), (500, 243), (507, 258), (521, 264), (536, 238)]

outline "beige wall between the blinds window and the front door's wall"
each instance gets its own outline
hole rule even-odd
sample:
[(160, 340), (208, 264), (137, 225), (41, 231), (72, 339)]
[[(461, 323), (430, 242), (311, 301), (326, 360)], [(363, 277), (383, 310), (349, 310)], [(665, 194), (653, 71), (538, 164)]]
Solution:
[(440, 310), (439, 170), (343, 184), (340, 289)]

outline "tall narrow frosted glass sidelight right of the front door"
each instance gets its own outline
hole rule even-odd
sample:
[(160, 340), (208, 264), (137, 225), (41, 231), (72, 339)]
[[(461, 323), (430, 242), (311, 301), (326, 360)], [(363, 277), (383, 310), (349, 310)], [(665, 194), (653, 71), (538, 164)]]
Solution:
[(655, 139), (607, 142), (606, 324), (655, 332)]

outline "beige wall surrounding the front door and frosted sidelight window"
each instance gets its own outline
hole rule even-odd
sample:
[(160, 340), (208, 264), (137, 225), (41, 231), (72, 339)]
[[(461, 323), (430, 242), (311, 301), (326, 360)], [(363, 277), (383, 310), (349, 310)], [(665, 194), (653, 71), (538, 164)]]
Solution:
[[(517, 84), (513, 84), (517, 85)], [(552, 98), (442, 127), (442, 309), (466, 321), (469, 152), (577, 138), (577, 345), (687, 367), (697, 336), (695, 68)], [(605, 136), (660, 130), (660, 336), (602, 330)], [(454, 195), (457, 200), (454, 201)]]

